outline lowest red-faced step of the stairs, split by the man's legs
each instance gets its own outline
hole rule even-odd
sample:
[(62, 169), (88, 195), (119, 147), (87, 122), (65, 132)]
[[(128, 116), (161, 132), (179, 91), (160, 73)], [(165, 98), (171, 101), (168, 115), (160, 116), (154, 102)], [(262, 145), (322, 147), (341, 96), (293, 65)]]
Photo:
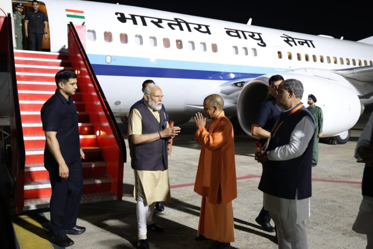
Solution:
[[(83, 194), (109, 192), (112, 179), (109, 176), (96, 176), (83, 179)], [(51, 196), (50, 180), (29, 181), (24, 184), (24, 199), (37, 199)]]

